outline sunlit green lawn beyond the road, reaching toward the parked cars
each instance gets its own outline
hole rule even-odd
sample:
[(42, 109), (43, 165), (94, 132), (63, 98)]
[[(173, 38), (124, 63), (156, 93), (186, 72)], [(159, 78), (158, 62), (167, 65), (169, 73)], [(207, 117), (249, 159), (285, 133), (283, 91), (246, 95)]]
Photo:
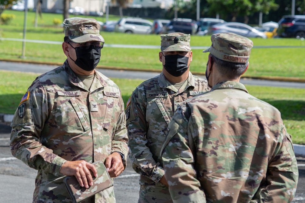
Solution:
[[(14, 14), (15, 19), (9, 25), (0, 26), (0, 36), (3, 38), (23, 38), (24, 12), (5, 10), (4, 13)], [(34, 28), (34, 12), (28, 12), (27, 35), (30, 40), (63, 41), (63, 28), (52, 24), (54, 18), (62, 19), (61, 14), (43, 13), (43, 18), (38, 18), (38, 27)], [(73, 17), (73, 16), (70, 16)], [(89, 17), (89, 16), (84, 16)], [(105, 17), (97, 17), (104, 22)], [(119, 19), (110, 16), (109, 20)], [(159, 35), (138, 35), (125, 33), (102, 32), (106, 44), (141, 44), (160, 46)], [(257, 39), (253, 38), (249, 69), (244, 76), (280, 76), (298, 77), (305, 79), (305, 41), (297, 39)], [(210, 36), (192, 36), (191, 46), (210, 46)], [(0, 41), (0, 59), (19, 59), (22, 55), (22, 42)], [(260, 48), (259, 46), (298, 46), (298, 48)], [(114, 48), (104, 47), (99, 66), (115, 66), (122, 68), (135, 68), (147, 70), (161, 70), (159, 61), (160, 49), (139, 48)], [(193, 61), (191, 71), (205, 72), (207, 55), (202, 50), (193, 49)], [(66, 56), (62, 52), (60, 44), (26, 43), (26, 59), (31, 61), (50, 61), (62, 63)]]

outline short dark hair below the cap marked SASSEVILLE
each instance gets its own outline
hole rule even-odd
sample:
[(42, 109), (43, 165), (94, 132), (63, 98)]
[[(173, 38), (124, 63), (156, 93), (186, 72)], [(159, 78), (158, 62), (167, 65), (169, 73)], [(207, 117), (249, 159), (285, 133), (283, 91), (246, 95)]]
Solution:
[(234, 63), (216, 58), (210, 54), (216, 67), (221, 75), (225, 75), (229, 79), (237, 79), (246, 70), (248, 63)]

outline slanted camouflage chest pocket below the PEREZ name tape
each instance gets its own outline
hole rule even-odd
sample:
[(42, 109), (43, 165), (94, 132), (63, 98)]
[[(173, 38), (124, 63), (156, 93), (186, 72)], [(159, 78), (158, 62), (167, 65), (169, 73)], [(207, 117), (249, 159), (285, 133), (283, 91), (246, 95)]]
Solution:
[(64, 139), (90, 129), (90, 124), (74, 97), (53, 109), (51, 113)]

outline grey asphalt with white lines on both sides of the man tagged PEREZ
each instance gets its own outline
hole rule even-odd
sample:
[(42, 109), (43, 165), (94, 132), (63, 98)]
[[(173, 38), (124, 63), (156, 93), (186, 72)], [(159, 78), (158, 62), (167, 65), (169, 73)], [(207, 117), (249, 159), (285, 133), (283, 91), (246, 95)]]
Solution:
[[(14, 158), (9, 149), (11, 128), (0, 124), (0, 203), (32, 202), (37, 171)], [(129, 162), (128, 162), (129, 163)], [(139, 175), (131, 164), (114, 179), (117, 203), (138, 202)]]

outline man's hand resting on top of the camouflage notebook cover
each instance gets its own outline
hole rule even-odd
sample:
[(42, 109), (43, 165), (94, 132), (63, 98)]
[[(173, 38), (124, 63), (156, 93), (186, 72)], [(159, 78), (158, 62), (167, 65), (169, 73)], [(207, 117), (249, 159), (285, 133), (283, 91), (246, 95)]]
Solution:
[(81, 187), (88, 188), (93, 185), (93, 180), (90, 171), (97, 177), (97, 170), (94, 165), (84, 160), (81, 161), (66, 161), (60, 169), (60, 173), (65, 176), (75, 176)]

